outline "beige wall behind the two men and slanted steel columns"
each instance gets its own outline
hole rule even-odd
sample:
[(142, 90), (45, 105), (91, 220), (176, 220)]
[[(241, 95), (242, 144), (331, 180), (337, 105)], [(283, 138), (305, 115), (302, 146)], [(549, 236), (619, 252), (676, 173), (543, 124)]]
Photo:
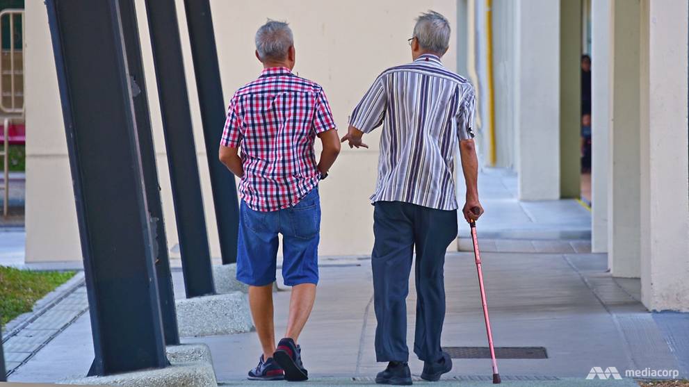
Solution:
[[(143, 0), (136, 0), (147, 89), (152, 113), (156, 159), (168, 246), (177, 245), (170, 179), (156, 93), (152, 54)], [(414, 17), (437, 10), (456, 25), (455, 0), (211, 1), (225, 100), (261, 70), (254, 58), (254, 32), (267, 17), (291, 22), (297, 49), (295, 72), (321, 83), (340, 131), (370, 83), (384, 68), (410, 60), (407, 38)], [(204, 193), (206, 223), (213, 256), (219, 256), (213, 199), (186, 19), (177, 1), (182, 48), (187, 69), (195, 142)], [(26, 2), (26, 261), (69, 261), (81, 258), (72, 182), (63, 126), (54, 58), (46, 10), (40, 1)], [(455, 28), (456, 29), (456, 28)], [(455, 69), (451, 47), (446, 66)], [(344, 149), (321, 184), (322, 255), (369, 254), (373, 242), (372, 211), (368, 196), (375, 186), (378, 135), (368, 138), (369, 150)], [(172, 253), (175, 256), (175, 253)]]

